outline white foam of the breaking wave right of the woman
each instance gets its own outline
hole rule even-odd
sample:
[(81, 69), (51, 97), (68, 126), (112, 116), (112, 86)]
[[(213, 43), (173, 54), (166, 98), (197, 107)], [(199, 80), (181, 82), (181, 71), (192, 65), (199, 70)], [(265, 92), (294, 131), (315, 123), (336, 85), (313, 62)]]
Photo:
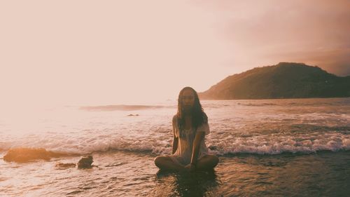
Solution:
[[(262, 137), (264, 138), (264, 137)], [(334, 133), (320, 136), (298, 136), (298, 140), (293, 136), (280, 136), (278, 138), (253, 137), (253, 139), (227, 140), (216, 142), (215, 154), (282, 154), (282, 153), (312, 153), (316, 151), (339, 151), (349, 150), (349, 135)], [(302, 139), (304, 138), (304, 139)], [(316, 138), (316, 140), (308, 140)], [(301, 140), (302, 139), (302, 140)], [(267, 141), (268, 140), (268, 141)], [(301, 141), (300, 141), (301, 140)]]

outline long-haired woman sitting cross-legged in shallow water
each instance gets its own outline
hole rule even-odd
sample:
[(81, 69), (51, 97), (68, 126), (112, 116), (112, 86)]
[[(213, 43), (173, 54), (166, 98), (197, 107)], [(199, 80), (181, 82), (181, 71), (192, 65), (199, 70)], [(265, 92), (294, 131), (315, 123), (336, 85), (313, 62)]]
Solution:
[(197, 92), (190, 87), (179, 93), (178, 111), (172, 119), (172, 155), (158, 156), (155, 165), (163, 170), (209, 170), (218, 164), (218, 157), (208, 154), (204, 137), (209, 134), (208, 117)]

